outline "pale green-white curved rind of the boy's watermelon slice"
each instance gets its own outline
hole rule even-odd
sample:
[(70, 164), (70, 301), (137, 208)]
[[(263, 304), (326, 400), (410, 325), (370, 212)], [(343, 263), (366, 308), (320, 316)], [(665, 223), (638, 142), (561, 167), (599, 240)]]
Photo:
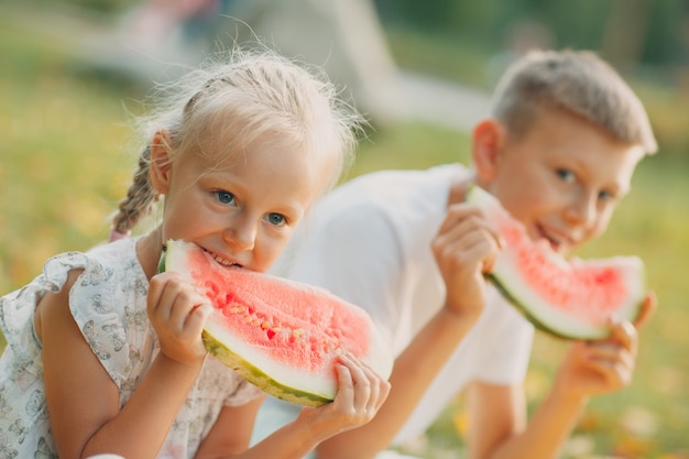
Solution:
[[(475, 185), (472, 185), (467, 190), (466, 200), (469, 203), (478, 204), (481, 207), (493, 205), (492, 201), (489, 201), (489, 199), (494, 200), (495, 198), (492, 195), (489, 195), (488, 192), (480, 189)], [(630, 303), (622, 307), (617, 313), (619, 318), (633, 321), (638, 317), (642, 309), (643, 298), (646, 291), (646, 276), (641, 259), (636, 256), (626, 256), (624, 259), (628, 259), (634, 263), (638, 263), (638, 269), (635, 273), (637, 274), (637, 276), (635, 276), (635, 278), (631, 281), (635, 284), (638, 284), (633, 286), (637, 292), (637, 294), (635, 295), (637, 299), (631, 299)], [(520, 295), (514, 293), (514, 288), (517, 288), (517, 286), (521, 285), (522, 281), (521, 278), (518, 278), (518, 275), (515, 278), (508, 278), (507, 272), (510, 272), (511, 269), (508, 266), (505, 267), (505, 264), (508, 265), (508, 263), (510, 261), (505, 259), (505, 256), (500, 255), (499, 260), (493, 266), (493, 272), (485, 273), (484, 278), (490, 281), (495, 286), (497, 292), (538, 330), (547, 332), (556, 338), (566, 340), (604, 339), (611, 335), (612, 330), (606, 324), (587, 324), (576, 317), (567, 317), (566, 313), (562, 312), (549, 310), (549, 313), (551, 314), (550, 318), (556, 317), (557, 321), (559, 321), (560, 324), (554, 324), (553, 320), (551, 323), (548, 323), (547, 319), (542, 318), (539, 312), (536, 312), (536, 309), (538, 308), (537, 300), (535, 300), (534, 305), (532, 305), (528, 302), (520, 299)], [(545, 309), (547, 310), (548, 308)], [(571, 323), (562, 325), (562, 321), (567, 319), (571, 320)]]

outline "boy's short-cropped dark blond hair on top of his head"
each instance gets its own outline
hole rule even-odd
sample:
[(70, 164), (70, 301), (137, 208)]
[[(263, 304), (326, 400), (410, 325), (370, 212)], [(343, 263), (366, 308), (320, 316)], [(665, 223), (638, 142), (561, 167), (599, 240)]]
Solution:
[(658, 147), (638, 97), (592, 52), (532, 51), (507, 68), (493, 94), (492, 116), (521, 138), (543, 109), (580, 116), (647, 154)]

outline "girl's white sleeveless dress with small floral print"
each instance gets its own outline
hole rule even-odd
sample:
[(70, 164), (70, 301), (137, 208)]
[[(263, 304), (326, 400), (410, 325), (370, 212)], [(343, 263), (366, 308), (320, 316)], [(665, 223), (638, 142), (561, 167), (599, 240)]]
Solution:
[[(0, 357), (0, 459), (57, 458), (33, 318), (37, 302), (46, 292), (58, 292), (69, 271), (84, 270), (72, 287), (69, 308), (119, 387), (120, 407), (141, 383), (158, 343), (146, 316), (149, 281), (136, 258), (136, 240), (56, 255), (31, 284), (0, 298), (0, 326), (8, 341)], [(194, 457), (222, 406), (242, 405), (260, 394), (208, 357), (157, 457)]]

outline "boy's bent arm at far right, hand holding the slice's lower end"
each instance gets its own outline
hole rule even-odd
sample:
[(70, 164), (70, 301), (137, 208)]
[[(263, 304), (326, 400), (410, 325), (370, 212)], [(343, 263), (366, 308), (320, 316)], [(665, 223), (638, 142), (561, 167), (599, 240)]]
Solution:
[(655, 308), (655, 296), (648, 294), (634, 324), (613, 325), (612, 337), (606, 340), (572, 342), (553, 390), (526, 428), (526, 406), (520, 387), (474, 383), (470, 393), (470, 458), (558, 457), (589, 397), (617, 391), (631, 382), (637, 330)]

